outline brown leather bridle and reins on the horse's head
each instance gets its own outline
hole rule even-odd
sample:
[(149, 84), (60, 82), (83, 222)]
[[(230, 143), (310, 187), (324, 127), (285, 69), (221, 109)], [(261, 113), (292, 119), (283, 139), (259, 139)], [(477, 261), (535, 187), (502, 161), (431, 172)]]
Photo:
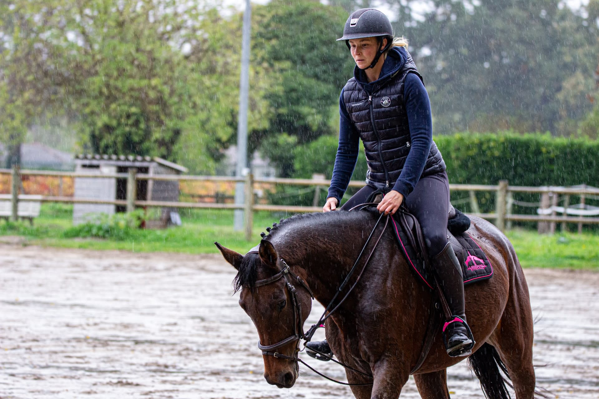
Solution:
[[(356, 208), (364, 209), (367, 206), (377, 206), (377, 204), (376, 203), (364, 203), (364, 204), (353, 207), (352, 209), (350, 209), (350, 211), (353, 211), (353, 209), (356, 209)], [(353, 288), (355, 288), (356, 285), (358, 284), (360, 278), (362, 277), (362, 274), (364, 273), (364, 270), (366, 269), (366, 266), (368, 265), (368, 261), (370, 261), (370, 258), (374, 254), (374, 250), (376, 249), (377, 245), (379, 244), (380, 239), (383, 237), (383, 233), (385, 233), (387, 224), (389, 223), (389, 217), (390, 217), (389, 215), (387, 215), (387, 217), (386, 217), (385, 226), (383, 227), (383, 230), (380, 233), (379, 238), (374, 243), (373, 249), (370, 251), (370, 255), (368, 255), (368, 258), (366, 259), (364, 266), (362, 266), (362, 270), (359, 273), (358, 278), (356, 279), (356, 281), (354, 282), (352, 287), (350, 287), (349, 291), (347, 291), (347, 293), (343, 297), (343, 299), (341, 299), (341, 301), (339, 301), (339, 303), (337, 303), (335, 305), (335, 300), (337, 299), (339, 294), (341, 294), (341, 291), (343, 291), (343, 288), (349, 282), (349, 279), (352, 277), (353, 272), (355, 272), (356, 266), (358, 266), (358, 263), (362, 257), (362, 254), (364, 254), (364, 251), (365, 251), (366, 247), (368, 246), (368, 243), (370, 243), (370, 239), (373, 237), (374, 231), (376, 230), (377, 226), (379, 226), (379, 222), (383, 218), (383, 215), (385, 215), (385, 214), (380, 214), (379, 220), (377, 220), (376, 224), (373, 227), (372, 232), (370, 233), (370, 236), (368, 236), (368, 239), (364, 243), (364, 246), (362, 247), (362, 251), (358, 255), (358, 258), (356, 259), (355, 263), (353, 264), (352, 269), (350, 269), (349, 273), (347, 273), (347, 276), (344, 279), (343, 283), (341, 283), (340, 287), (338, 288), (337, 293), (335, 293), (335, 295), (329, 302), (328, 306), (326, 306), (325, 312), (322, 314), (322, 316), (320, 316), (319, 321), (310, 327), (310, 329), (308, 330), (307, 333), (304, 333), (304, 326), (303, 326), (303, 322), (301, 319), (301, 303), (297, 299), (297, 290), (295, 289), (295, 286), (293, 284), (294, 279), (299, 284), (301, 284), (301, 286), (304, 287), (304, 289), (306, 291), (308, 291), (311, 299), (314, 299), (314, 294), (310, 290), (310, 287), (308, 287), (308, 285), (305, 284), (305, 282), (298, 275), (295, 275), (295, 273), (291, 271), (291, 268), (285, 262), (285, 260), (283, 260), (283, 259), (280, 260), (281, 263), (283, 264), (283, 266), (285, 266), (285, 267), (279, 273), (277, 273), (276, 275), (274, 275), (270, 278), (259, 280), (259, 281), (255, 282), (253, 287), (263, 287), (264, 285), (273, 284), (274, 282), (279, 281), (281, 278), (284, 278), (285, 279), (285, 287), (288, 290), (289, 297), (291, 297), (291, 301), (292, 301), (292, 304), (294, 307), (294, 334), (292, 336), (287, 337), (286, 339), (283, 339), (277, 343), (274, 343), (273, 345), (262, 345), (262, 343), (260, 341), (258, 341), (258, 349), (260, 349), (262, 351), (262, 355), (270, 355), (270, 356), (273, 356), (273, 357), (276, 357), (279, 359), (286, 359), (286, 360), (294, 361), (296, 363), (302, 363), (302, 364), (304, 364), (304, 366), (307, 366), (308, 368), (310, 368), (310, 370), (314, 371), (315, 373), (319, 374), (320, 376), (325, 377), (326, 379), (331, 380), (333, 382), (343, 384), (343, 385), (353, 385), (353, 386), (372, 385), (372, 383), (363, 383), (363, 384), (362, 383), (347, 383), (347, 382), (341, 382), (341, 381), (337, 381), (332, 378), (329, 378), (329, 377), (325, 376), (324, 374), (320, 373), (319, 371), (314, 370), (314, 368), (312, 368), (310, 365), (308, 365), (303, 360), (301, 360), (298, 357), (298, 353), (305, 349), (305, 346), (307, 345), (307, 343), (310, 342), (310, 340), (314, 336), (314, 333), (316, 333), (317, 328), (322, 326), (323, 323), (326, 321), (326, 319), (328, 319), (329, 316), (331, 316), (331, 314), (341, 306), (341, 304), (347, 299), (349, 294), (353, 291)], [(256, 245), (254, 248), (250, 249), (250, 251), (247, 252), (247, 254), (258, 253), (258, 248), (259, 248), (259, 245)], [(304, 342), (304, 348), (301, 349), (301, 351), (300, 351), (299, 350), (299, 341), (301, 341), (302, 339), (304, 339), (305, 342)], [(294, 356), (284, 355), (284, 354), (281, 354), (281, 353), (275, 351), (276, 349), (279, 349), (280, 347), (287, 345), (290, 342), (294, 342), (296, 340), (297, 340), (298, 344), (295, 349)], [(363, 371), (356, 370), (355, 368), (347, 366), (347, 364), (341, 363), (340, 361), (337, 361), (335, 359), (331, 358), (331, 360), (349, 370), (354, 371), (355, 373), (362, 374), (362, 376), (372, 379), (372, 376), (370, 374), (364, 373)]]

